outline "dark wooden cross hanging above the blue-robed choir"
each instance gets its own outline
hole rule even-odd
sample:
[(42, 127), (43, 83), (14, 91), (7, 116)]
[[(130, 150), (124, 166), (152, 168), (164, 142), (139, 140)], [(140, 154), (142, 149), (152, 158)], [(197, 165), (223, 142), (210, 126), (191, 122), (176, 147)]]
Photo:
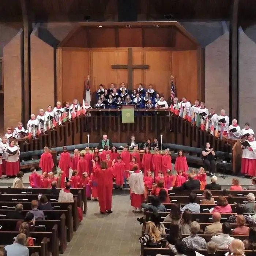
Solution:
[(133, 90), (133, 69), (148, 69), (149, 65), (132, 65), (132, 48), (128, 48), (128, 65), (111, 65), (113, 69), (128, 69), (128, 89)]

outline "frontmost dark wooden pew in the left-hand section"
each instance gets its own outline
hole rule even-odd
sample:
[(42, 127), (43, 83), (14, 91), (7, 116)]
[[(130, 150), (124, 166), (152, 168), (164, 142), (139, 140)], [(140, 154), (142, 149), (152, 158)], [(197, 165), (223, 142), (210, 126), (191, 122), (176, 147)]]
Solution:
[[(0, 193), (2, 194), (22, 194), (22, 195), (46, 195), (45, 191), (48, 188), (0, 188)], [(60, 191), (61, 188), (58, 188)], [(79, 192), (80, 191), (80, 192)], [(86, 189), (85, 188), (71, 188), (70, 192), (74, 196), (78, 196), (78, 207), (81, 207), (84, 213), (87, 212), (87, 198), (86, 198)]]

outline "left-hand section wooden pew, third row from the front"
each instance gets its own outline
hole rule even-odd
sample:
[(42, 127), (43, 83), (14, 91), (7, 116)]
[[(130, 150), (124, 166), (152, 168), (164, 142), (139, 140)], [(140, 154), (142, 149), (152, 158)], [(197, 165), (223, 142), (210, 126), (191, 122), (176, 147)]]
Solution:
[[(14, 210), (10, 210), (10, 209), (0, 210), (0, 219), (5, 219), (6, 214), (10, 211), (14, 211)], [(22, 213), (24, 215), (26, 215), (26, 213), (29, 212), (29, 211), (30, 210), (23, 210)], [(45, 218), (47, 218), (47, 220), (49, 220), (48, 216), (52, 212), (53, 211), (44, 211)], [(55, 215), (56, 219), (59, 220), (61, 218), (62, 214), (65, 215), (65, 219), (66, 219), (65, 225), (67, 227), (67, 241), (71, 241), (72, 237), (74, 236), (73, 217), (72, 217), (72, 207), (71, 207), (71, 205), (68, 206), (67, 210), (54, 210), (54, 215)]]

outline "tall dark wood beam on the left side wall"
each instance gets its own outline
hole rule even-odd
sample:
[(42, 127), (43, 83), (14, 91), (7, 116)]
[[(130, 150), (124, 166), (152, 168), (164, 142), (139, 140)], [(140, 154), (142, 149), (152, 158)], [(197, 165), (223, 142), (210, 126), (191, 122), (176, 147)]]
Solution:
[(23, 83), (22, 83), (22, 123), (30, 119), (30, 34), (32, 23), (30, 22), (27, 0), (20, 0), (23, 18)]

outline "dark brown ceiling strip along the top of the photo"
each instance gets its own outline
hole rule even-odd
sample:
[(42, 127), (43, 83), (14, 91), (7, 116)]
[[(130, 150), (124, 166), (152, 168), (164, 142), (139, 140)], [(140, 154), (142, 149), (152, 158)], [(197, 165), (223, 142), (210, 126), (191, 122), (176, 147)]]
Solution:
[[(21, 2), (29, 7), (32, 22), (83, 21), (90, 15), (93, 21), (118, 21), (119, 0), (1, 0), (0, 22), (21, 22)], [(138, 20), (230, 20), (234, 0), (138, 0)], [(256, 21), (255, 0), (240, 0), (240, 24)]]

